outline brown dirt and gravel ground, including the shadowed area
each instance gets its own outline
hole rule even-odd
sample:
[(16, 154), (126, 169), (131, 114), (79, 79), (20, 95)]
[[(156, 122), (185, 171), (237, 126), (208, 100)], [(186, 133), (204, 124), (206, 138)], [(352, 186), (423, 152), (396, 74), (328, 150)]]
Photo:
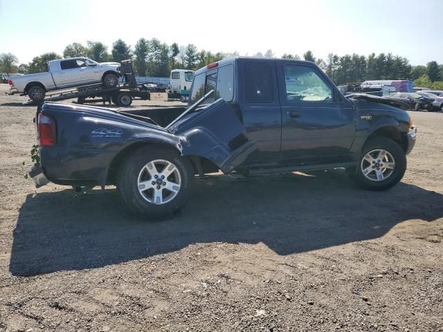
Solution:
[(411, 112), (418, 141), (392, 190), (342, 170), (208, 176), (179, 216), (149, 222), (112, 187), (36, 190), (35, 107), (6, 89), (0, 331), (443, 331), (442, 113)]

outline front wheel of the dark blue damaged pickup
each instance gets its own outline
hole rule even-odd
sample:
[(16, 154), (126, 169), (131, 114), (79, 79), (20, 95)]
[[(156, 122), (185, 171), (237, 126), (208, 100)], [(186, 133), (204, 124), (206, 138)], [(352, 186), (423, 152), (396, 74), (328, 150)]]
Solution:
[[(384, 151), (383, 158), (380, 152)], [(380, 161), (378, 161), (380, 160)], [(399, 183), (406, 172), (406, 154), (400, 145), (389, 138), (374, 138), (363, 146), (359, 165), (347, 169), (359, 187), (366, 190), (386, 190)]]

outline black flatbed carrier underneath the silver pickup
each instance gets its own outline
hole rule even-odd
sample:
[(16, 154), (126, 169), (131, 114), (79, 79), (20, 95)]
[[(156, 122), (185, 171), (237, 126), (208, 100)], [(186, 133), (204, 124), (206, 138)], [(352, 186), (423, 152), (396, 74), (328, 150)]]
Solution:
[(46, 98), (40, 102), (28, 100), (24, 105), (37, 105), (42, 102), (58, 102), (60, 100), (77, 98), (77, 104), (85, 102), (109, 102), (118, 106), (127, 107), (132, 104), (132, 100), (148, 100), (150, 93), (165, 92), (164, 89), (147, 88), (143, 83), (137, 83), (132, 68), (132, 60), (123, 60), (121, 62), (122, 82), (112, 88), (107, 88), (101, 83), (78, 86), (75, 89), (64, 89), (54, 91), (46, 95)]

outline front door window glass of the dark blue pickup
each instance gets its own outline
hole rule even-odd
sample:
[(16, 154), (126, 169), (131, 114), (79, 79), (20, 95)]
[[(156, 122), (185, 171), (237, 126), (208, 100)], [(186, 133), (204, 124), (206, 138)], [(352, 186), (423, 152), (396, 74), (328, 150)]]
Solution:
[(334, 100), (331, 87), (309, 66), (284, 66), (286, 99), (302, 102), (327, 102)]

